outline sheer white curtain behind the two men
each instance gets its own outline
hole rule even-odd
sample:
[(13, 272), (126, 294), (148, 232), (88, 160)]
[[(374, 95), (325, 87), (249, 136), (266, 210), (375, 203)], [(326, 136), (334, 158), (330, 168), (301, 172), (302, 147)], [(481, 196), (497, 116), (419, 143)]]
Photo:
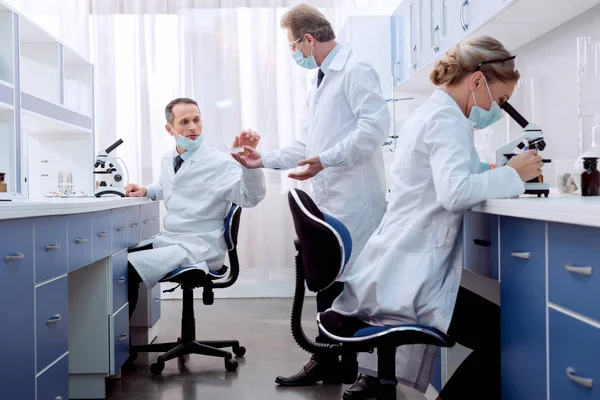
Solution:
[[(222, 151), (247, 127), (263, 137), (262, 151), (299, 138), (315, 72), (293, 63), (280, 28), (292, 3), (92, 0), (97, 148), (123, 139), (117, 155), (129, 181), (148, 184), (174, 145), (164, 128), (164, 106), (180, 96), (198, 101), (206, 143)], [(323, 11), (334, 15), (332, 8)], [(286, 192), (298, 185), (285, 173), (265, 172), (267, 197), (242, 213), (240, 281), (217, 295), (293, 294), (295, 234)]]

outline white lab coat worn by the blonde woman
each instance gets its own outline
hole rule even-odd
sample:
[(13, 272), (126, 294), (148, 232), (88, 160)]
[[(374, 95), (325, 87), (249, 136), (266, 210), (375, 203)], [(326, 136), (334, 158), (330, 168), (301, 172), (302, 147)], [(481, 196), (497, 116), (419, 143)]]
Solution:
[[(441, 90), (404, 124), (388, 211), (334, 310), (373, 325), (417, 323), (447, 332), (461, 279), (464, 212), (525, 190), (511, 167), (481, 173), (473, 128)], [(401, 347), (397, 372), (403, 383), (425, 392), (434, 355), (433, 346)]]

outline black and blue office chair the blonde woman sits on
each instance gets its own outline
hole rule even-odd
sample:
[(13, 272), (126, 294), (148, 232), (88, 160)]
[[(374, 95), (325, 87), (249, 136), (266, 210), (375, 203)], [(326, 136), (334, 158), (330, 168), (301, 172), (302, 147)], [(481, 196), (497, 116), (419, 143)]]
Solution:
[[(310, 352), (327, 352), (342, 356), (341, 376), (344, 383), (354, 383), (358, 374), (356, 353), (377, 350), (378, 400), (396, 399), (396, 349), (410, 344), (451, 347), (454, 341), (445, 333), (423, 325), (369, 326), (332, 310), (317, 315), (321, 333), (339, 344), (315, 343), (302, 329), (304, 282), (309, 290), (319, 292), (332, 285), (343, 273), (352, 252), (348, 229), (335, 218), (323, 214), (303, 191), (288, 194), (296, 240), (296, 289), (292, 307), (292, 334), (298, 345)], [(338, 329), (340, 325), (345, 328)], [(336, 331), (334, 334), (330, 331)], [(344, 333), (339, 333), (343, 331)]]

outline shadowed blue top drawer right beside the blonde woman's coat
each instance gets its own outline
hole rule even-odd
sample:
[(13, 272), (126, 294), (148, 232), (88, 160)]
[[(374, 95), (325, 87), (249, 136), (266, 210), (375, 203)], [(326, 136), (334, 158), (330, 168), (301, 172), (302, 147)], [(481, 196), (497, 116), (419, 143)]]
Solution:
[(465, 268), (498, 280), (498, 216), (468, 212), (464, 219)]

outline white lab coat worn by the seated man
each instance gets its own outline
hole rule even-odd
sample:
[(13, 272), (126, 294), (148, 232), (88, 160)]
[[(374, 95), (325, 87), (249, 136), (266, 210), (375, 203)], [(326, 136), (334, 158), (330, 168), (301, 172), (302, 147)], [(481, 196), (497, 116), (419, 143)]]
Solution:
[(163, 157), (159, 179), (148, 186), (156, 200), (165, 202), (164, 230), (154, 238), (152, 250), (128, 257), (148, 288), (181, 266), (195, 265), (207, 272), (219, 269), (227, 252), (224, 220), (231, 203), (254, 207), (266, 193), (261, 170), (246, 169), (206, 143), (177, 174), (176, 155), (173, 150)]

